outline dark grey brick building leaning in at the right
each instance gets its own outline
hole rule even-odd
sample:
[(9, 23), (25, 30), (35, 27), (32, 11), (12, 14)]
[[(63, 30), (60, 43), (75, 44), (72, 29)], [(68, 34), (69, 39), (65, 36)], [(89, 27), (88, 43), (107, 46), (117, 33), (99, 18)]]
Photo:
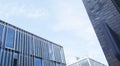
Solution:
[(120, 66), (120, 0), (83, 0), (109, 66)]

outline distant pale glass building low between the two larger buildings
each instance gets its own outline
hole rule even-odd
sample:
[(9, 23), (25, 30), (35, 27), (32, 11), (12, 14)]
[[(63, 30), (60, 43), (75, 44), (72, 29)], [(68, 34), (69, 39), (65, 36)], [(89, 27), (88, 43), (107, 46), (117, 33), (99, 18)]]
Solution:
[(100, 62), (97, 62), (90, 58), (82, 58), (78, 60), (77, 62), (70, 64), (68, 66), (106, 66)]

